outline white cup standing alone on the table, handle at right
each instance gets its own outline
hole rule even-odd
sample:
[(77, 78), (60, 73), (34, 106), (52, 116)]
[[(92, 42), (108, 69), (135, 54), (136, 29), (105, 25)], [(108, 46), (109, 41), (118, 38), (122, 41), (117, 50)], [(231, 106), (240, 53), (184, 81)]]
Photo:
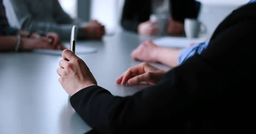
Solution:
[(206, 26), (196, 19), (186, 18), (184, 22), (184, 28), (187, 38), (198, 38), (199, 34), (207, 33)]

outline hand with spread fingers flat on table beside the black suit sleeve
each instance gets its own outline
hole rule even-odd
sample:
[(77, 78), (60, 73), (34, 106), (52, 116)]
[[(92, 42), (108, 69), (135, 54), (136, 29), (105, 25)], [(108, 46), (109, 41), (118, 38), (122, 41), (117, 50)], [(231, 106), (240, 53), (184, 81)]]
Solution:
[(129, 68), (118, 79), (117, 84), (125, 85), (127, 82), (130, 85), (146, 82), (147, 84), (156, 84), (166, 71), (159, 70), (148, 63), (138, 64)]

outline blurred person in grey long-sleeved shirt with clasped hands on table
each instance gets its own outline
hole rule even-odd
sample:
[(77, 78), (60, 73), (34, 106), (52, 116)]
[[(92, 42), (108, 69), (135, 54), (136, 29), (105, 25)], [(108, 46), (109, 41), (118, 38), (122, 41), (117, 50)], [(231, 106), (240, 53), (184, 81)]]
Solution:
[(8, 0), (17, 17), (18, 26), (27, 31), (41, 30), (58, 33), (61, 39), (70, 39), (73, 25), (78, 27), (78, 39), (101, 39), (105, 27), (92, 20), (88, 23), (72, 19), (58, 0)]

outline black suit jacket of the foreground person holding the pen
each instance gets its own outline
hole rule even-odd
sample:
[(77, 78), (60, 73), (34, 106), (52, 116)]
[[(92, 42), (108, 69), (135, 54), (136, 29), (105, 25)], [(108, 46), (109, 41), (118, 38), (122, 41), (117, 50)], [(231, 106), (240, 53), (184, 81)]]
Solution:
[(233, 11), (209, 46), (128, 97), (91, 86), (70, 98), (102, 134), (246, 134), (255, 126), (256, 3)]

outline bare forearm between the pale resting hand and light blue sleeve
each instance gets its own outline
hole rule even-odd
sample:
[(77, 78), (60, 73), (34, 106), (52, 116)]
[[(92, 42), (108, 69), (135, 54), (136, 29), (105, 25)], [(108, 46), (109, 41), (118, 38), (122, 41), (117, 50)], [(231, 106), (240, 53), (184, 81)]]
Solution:
[(158, 47), (155, 54), (156, 60), (169, 67), (176, 67), (178, 65), (178, 56), (181, 49)]

